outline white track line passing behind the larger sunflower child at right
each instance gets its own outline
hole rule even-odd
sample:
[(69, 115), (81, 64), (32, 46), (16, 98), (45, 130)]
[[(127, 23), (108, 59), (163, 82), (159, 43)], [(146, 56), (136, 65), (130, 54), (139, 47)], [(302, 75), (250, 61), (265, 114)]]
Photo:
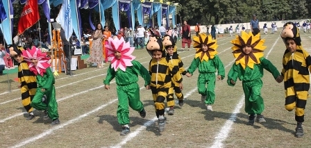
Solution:
[[(278, 42), (278, 39), (276, 40), (276, 42)], [(274, 49), (276, 42), (274, 42), (274, 44), (272, 45), (266, 58), (268, 58), (269, 54)], [(230, 115), (230, 118), (225, 122), (224, 126), (221, 127), (221, 130), (215, 137), (215, 142), (210, 148), (219, 148), (224, 145), (222, 142), (226, 140), (226, 138), (228, 137), (230, 130), (232, 128), (233, 122), (235, 122), (235, 119), (237, 118), (237, 113), (239, 113), (239, 110), (242, 108), (243, 105), (244, 105), (244, 94), (242, 95), (241, 99), (239, 99), (239, 103), (237, 104), (237, 106), (235, 106), (235, 109), (233, 110), (233, 113)]]

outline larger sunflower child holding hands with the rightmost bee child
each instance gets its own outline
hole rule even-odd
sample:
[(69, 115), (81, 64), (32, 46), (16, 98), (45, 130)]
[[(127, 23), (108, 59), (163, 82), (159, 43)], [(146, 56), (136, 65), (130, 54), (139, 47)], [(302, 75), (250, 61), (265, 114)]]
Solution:
[(237, 35), (231, 41), (234, 46), (233, 56), (237, 58), (235, 64), (228, 73), (227, 83), (234, 86), (237, 78), (242, 81), (242, 87), (245, 94), (245, 112), (249, 114), (248, 124), (253, 125), (255, 115), (258, 122), (266, 122), (262, 111), (264, 110), (264, 102), (261, 97), (263, 69), (267, 69), (278, 83), (280, 80), (280, 72), (272, 63), (264, 58), (262, 53), (266, 47), (263, 46), (264, 40), (260, 39), (260, 34), (246, 33), (242, 31), (242, 35)]

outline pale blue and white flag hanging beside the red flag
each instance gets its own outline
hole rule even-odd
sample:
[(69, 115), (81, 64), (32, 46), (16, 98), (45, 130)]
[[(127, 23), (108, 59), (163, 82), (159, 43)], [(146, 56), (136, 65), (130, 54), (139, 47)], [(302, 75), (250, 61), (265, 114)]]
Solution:
[(65, 31), (65, 38), (69, 41), (69, 38), (74, 32), (74, 28), (72, 27), (72, 10), (70, 8), (70, 0), (64, 0), (62, 3), (62, 8), (60, 8), (60, 13), (58, 13), (58, 17), (56, 17), (56, 22), (62, 26)]

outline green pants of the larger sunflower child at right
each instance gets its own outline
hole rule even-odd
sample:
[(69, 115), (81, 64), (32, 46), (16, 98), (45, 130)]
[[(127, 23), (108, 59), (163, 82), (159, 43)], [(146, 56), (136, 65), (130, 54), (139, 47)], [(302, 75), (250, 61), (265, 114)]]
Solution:
[(264, 100), (261, 97), (261, 79), (242, 82), (245, 94), (245, 112), (249, 115), (261, 114), (264, 110)]

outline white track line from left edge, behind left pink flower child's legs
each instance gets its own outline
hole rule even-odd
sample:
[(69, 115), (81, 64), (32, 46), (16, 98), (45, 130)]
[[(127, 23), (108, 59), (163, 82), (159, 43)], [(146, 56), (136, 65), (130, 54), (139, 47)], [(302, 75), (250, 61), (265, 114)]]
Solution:
[[(190, 56), (194, 56), (194, 54), (189, 55), (189, 56), (185, 56), (185, 57), (183, 57), (183, 58), (187, 58), (187, 57), (190, 57)], [(182, 59), (183, 59), (183, 58), (182, 58)], [(146, 61), (146, 62), (144, 62), (144, 63), (147, 63), (147, 62), (149, 62), (149, 61)], [(110, 84), (112, 84), (112, 83), (115, 83), (115, 81), (110, 82)], [(84, 90), (83, 92), (78, 92), (78, 93), (76, 93), (76, 94), (72, 94), (72, 95), (69, 95), (69, 96), (67, 96), (67, 97), (63, 97), (63, 98), (56, 99), (56, 100), (57, 100), (57, 102), (59, 102), (59, 101), (62, 101), (62, 100), (65, 100), (65, 99), (68, 99), (68, 98), (77, 96), (77, 95), (79, 95), (79, 94), (83, 94), (83, 93), (85, 93), (85, 92), (89, 92), (89, 91), (92, 91), (92, 90), (96, 90), (96, 89), (99, 89), (99, 88), (103, 88), (104, 86), (105, 86), (105, 85), (100, 85), (100, 86), (98, 86), (98, 87), (96, 87), (96, 88), (92, 88), (92, 89), (90, 89), (90, 90)], [(26, 112), (16, 113), (15, 115), (11, 115), (10, 117), (6, 117), (6, 118), (4, 118), (3, 120), (0, 120), (0, 123), (6, 122), (7, 120), (10, 120), (10, 119), (12, 119), (12, 118), (14, 118), (14, 117), (18, 117), (19, 115), (24, 115), (24, 113), (26, 113)]]

